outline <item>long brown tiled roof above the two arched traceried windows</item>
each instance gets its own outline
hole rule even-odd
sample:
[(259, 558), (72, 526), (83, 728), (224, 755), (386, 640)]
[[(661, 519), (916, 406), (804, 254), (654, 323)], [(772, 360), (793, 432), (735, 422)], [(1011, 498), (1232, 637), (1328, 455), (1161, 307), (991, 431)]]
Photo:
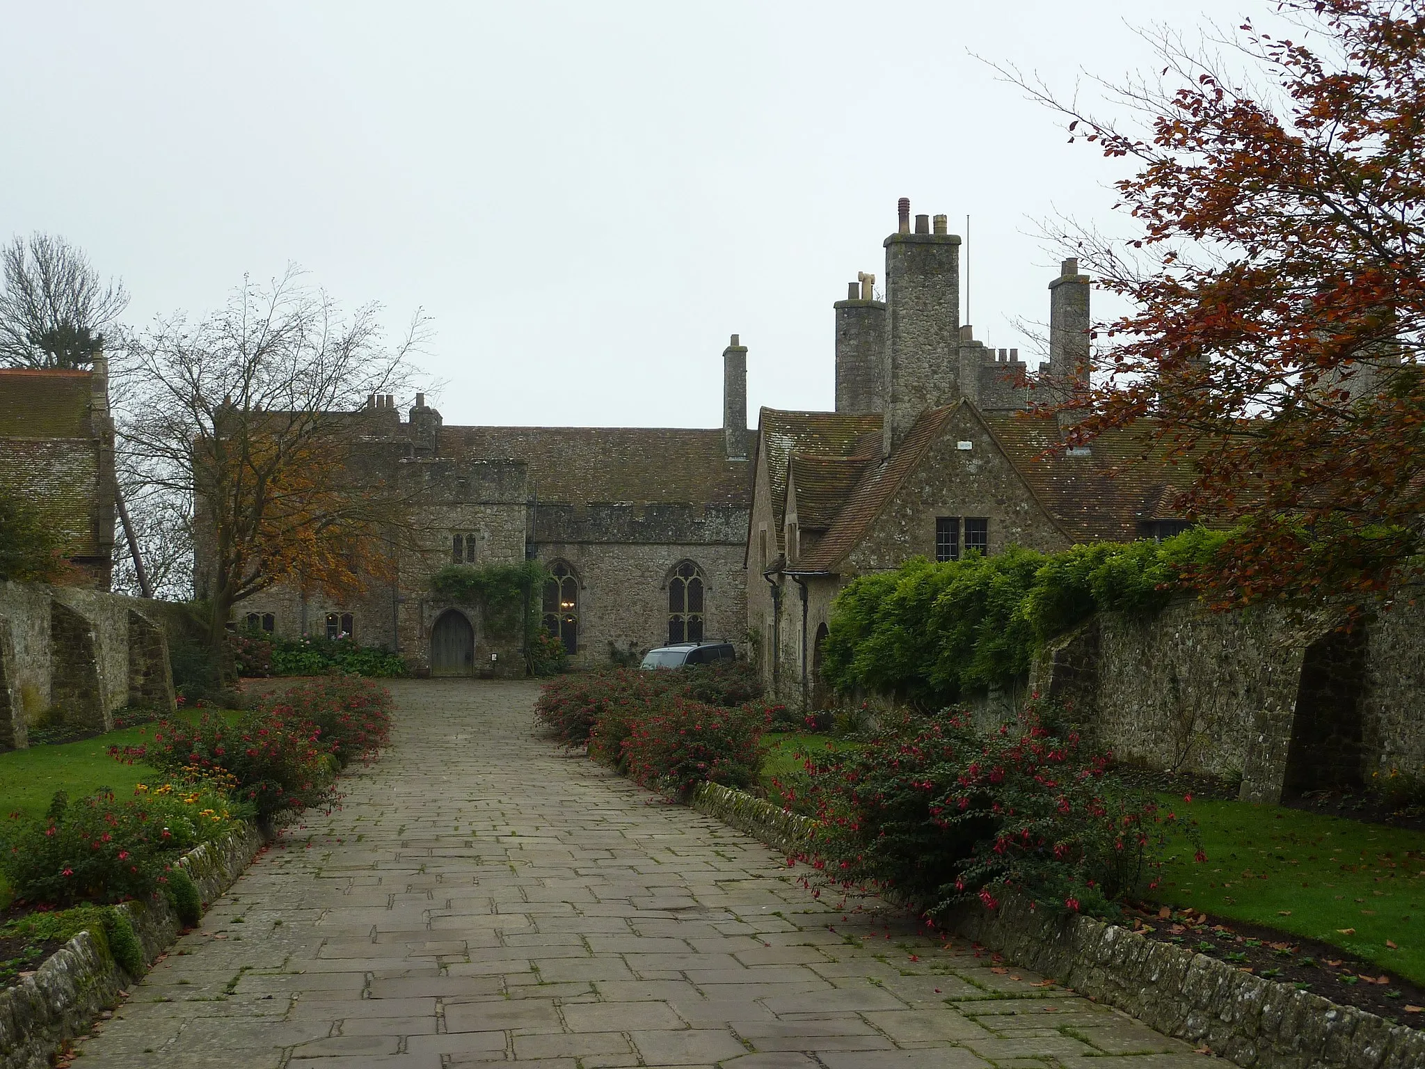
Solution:
[(751, 465), (728, 460), (722, 430), (443, 426), (440, 455), (524, 460), (540, 502), (731, 505), (751, 499)]

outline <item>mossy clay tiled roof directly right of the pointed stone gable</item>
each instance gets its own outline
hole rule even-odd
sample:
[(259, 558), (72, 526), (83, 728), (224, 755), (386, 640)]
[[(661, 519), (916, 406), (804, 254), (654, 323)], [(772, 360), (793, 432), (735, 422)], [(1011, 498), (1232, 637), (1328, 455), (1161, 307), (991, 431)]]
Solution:
[(1063, 440), (1052, 419), (983, 413), (982, 419), (1010, 463), (1050, 516), (1074, 542), (1130, 542), (1139, 525), (1171, 517), (1177, 490), (1193, 477), (1187, 463), (1144, 460), (1143, 430), (1110, 430), (1087, 455), (1043, 452)]

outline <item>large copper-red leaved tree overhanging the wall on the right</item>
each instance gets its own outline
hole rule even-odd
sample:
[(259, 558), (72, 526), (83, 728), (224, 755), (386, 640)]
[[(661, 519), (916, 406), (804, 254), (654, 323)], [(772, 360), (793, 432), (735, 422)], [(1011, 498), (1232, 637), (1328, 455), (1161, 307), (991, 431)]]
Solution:
[(1153, 37), (1161, 71), (1109, 87), (1121, 124), (1010, 73), (1136, 164), (1126, 238), (1054, 232), (1130, 308), (1057, 408), (1066, 445), (1130, 428), (1196, 466), (1178, 507), (1234, 532), (1203, 576), (1218, 606), (1364, 604), (1422, 552), (1425, 4), (1268, 17), (1288, 31), (1247, 21), (1218, 53)]

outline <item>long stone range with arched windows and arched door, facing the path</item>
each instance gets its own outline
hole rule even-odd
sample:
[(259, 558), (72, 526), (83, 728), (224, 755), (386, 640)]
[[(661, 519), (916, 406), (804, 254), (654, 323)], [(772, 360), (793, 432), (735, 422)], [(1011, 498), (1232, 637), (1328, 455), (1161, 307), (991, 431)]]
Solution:
[(346, 636), (402, 653), (418, 673), (522, 674), (517, 640), (477, 607), (435, 594), (445, 564), (540, 560), (546, 629), (577, 667), (668, 641), (745, 646), (750, 433), (747, 349), (722, 353), (724, 420), (710, 430), (449, 426), (416, 395), (402, 413), (373, 396), (353, 426), (365, 460), (416, 487), (419, 552), (395, 582), (332, 600), (284, 584), (237, 623), (285, 637)]

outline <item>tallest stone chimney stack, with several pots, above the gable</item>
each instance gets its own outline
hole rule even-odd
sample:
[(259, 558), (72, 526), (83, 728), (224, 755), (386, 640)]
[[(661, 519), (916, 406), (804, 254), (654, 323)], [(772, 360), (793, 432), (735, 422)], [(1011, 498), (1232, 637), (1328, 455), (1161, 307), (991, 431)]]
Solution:
[(918, 215), (911, 232), (909, 200), (896, 208), (896, 232), (885, 239), (885, 453), (925, 409), (960, 396), (960, 238), (948, 232), (943, 215), (933, 224)]

